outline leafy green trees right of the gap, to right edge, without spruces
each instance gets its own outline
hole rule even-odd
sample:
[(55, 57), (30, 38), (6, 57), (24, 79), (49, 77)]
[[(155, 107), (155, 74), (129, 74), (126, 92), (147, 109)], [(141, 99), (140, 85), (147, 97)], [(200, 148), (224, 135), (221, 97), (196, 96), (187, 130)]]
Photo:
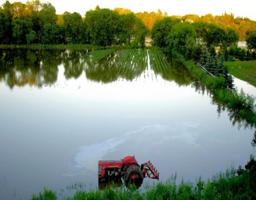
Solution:
[[(205, 47), (213, 56), (238, 56), (242, 52), (255, 59), (256, 31), (246, 35), (247, 49), (238, 47), (239, 35), (233, 28), (222, 28), (216, 23), (184, 22), (174, 16), (157, 20), (151, 30), (152, 45), (177, 52), (188, 60), (199, 60)], [(237, 55), (236, 55), (237, 53)], [(239, 56), (238, 56), (239, 57)]]

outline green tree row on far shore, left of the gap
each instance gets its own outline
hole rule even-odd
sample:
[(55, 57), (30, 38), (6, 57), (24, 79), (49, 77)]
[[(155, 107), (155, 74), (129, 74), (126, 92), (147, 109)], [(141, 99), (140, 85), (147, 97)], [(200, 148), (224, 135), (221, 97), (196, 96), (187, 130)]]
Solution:
[(6, 1), (0, 7), (1, 44), (93, 44), (144, 47), (147, 29), (133, 12), (110, 9), (57, 15), (51, 3)]

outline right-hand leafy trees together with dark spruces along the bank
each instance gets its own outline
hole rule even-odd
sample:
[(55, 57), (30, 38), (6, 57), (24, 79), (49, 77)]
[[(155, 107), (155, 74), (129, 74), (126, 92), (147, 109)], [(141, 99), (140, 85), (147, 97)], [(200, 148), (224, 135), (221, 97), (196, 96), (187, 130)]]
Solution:
[(152, 45), (166, 49), (171, 57), (182, 55), (204, 66), (213, 76), (224, 77), (224, 85), (231, 89), (233, 80), (224, 61), (233, 59), (238, 52), (243, 52), (247, 60), (255, 59), (256, 32), (246, 36), (246, 51), (237, 47), (239, 36), (233, 28), (222, 28), (216, 23), (192, 23), (166, 17), (155, 22), (151, 37)]

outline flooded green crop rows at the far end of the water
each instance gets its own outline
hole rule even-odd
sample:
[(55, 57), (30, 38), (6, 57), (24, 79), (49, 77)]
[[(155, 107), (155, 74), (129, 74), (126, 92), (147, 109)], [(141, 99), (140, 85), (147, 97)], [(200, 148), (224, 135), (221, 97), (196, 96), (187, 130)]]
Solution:
[[(132, 81), (146, 68), (169, 70), (166, 57), (159, 50), (114, 49), (92, 51), (82, 58), (85, 61), (86, 77), (91, 80), (112, 82), (119, 77)], [(114, 53), (113, 53), (114, 52)]]

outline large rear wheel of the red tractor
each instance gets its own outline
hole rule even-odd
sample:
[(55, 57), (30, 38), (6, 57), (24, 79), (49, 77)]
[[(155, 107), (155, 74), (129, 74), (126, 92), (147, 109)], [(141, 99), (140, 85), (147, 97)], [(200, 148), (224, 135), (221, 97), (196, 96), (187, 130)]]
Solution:
[(125, 185), (128, 186), (129, 184), (134, 184), (137, 189), (141, 187), (143, 182), (143, 173), (139, 166), (130, 166), (126, 172), (125, 176), (123, 177), (125, 181)]

